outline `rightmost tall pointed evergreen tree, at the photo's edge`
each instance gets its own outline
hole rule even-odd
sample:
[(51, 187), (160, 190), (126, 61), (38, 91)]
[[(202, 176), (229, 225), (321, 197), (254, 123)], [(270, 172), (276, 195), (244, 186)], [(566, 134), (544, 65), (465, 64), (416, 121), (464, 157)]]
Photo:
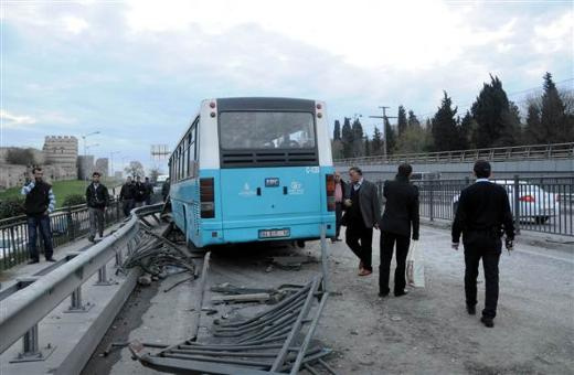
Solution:
[(565, 114), (566, 106), (552, 81), (552, 74), (544, 75), (544, 94), (542, 95), (542, 108), (540, 110), (541, 126), (545, 129), (544, 143), (559, 143), (572, 139), (572, 122)]

